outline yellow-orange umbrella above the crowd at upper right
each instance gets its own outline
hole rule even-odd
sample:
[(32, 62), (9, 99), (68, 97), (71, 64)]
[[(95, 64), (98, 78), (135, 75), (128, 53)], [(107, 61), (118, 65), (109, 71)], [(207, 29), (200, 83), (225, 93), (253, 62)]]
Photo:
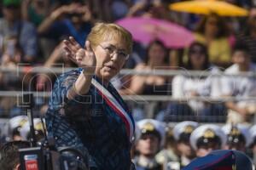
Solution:
[(218, 0), (194, 0), (181, 3), (172, 3), (169, 8), (179, 12), (192, 14), (216, 13), (221, 16), (247, 16), (248, 11), (236, 5)]

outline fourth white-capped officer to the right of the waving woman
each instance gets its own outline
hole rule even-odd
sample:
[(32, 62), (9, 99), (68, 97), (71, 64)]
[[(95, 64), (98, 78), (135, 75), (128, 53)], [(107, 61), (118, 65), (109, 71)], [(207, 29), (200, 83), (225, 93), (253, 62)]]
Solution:
[(251, 144), (251, 136), (247, 125), (226, 124), (222, 127), (222, 130), (227, 135), (227, 144), (225, 150), (241, 150), (246, 152), (246, 148)]

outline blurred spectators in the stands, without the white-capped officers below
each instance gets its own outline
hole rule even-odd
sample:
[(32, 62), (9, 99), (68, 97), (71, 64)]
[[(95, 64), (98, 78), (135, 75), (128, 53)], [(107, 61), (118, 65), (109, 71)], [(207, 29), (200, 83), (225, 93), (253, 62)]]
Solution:
[[(55, 82), (51, 67), (76, 67), (63, 52), (62, 41), (74, 37), (83, 47), (90, 28), (96, 22), (116, 22), (127, 17), (166, 20), (191, 32), (194, 42), (183, 47), (166, 46), (160, 39), (150, 43), (134, 42), (125, 68), (143, 70), (178, 70), (183, 75), (125, 75), (113, 80), (120, 94), (172, 95), (176, 102), (157, 102), (153, 116), (164, 122), (195, 120), (199, 122), (253, 122), (255, 101), (240, 98), (256, 96), (253, 77), (192, 77), (189, 71), (239, 74), (256, 67), (255, 1), (229, 0), (227, 3), (248, 11), (247, 16), (189, 14), (170, 10), (167, 0), (3, 0), (0, 18), (0, 63), (4, 68), (26, 66), (23, 73), (0, 72), (0, 89), (50, 91)], [(160, 30), (161, 31), (161, 30)], [(167, 39), (172, 41), (172, 37)], [(184, 39), (181, 39), (184, 41)], [(44, 66), (49, 73), (30, 73), (30, 66)], [(25, 68), (26, 68), (25, 67)], [(236, 97), (236, 101), (215, 102), (185, 97)], [(16, 99), (1, 97), (0, 115), (20, 115)], [(36, 113), (44, 115), (47, 99), (37, 98)], [(138, 120), (147, 117), (142, 105), (131, 104)]]

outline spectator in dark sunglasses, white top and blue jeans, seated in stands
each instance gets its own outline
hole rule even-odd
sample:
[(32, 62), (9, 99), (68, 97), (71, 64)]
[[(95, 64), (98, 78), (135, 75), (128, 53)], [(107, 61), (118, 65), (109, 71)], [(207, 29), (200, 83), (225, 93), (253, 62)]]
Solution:
[[(189, 60), (184, 75), (177, 75), (172, 79), (172, 97), (212, 97), (220, 96), (220, 78), (218, 77), (191, 77), (189, 71), (210, 71), (218, 73), (218, 68), (208, 60), (207, 47), (200, 42), (193, 42), (189, 47)], [(165, 122), (199, 118), (203, 122), (216, 121), (212, 119), (224, 114), (224, 105), (195, 99), (189, 99), (187, 104), (170, 102), (165, 111), (157, 116)], [(188, 117), (184, 117), (188, 116)]]

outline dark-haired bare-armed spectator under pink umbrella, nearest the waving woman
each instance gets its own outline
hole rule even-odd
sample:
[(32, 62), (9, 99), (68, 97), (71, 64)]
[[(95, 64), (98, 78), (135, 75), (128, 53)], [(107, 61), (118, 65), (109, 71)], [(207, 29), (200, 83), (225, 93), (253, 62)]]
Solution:
[[(167, 48), (160, 41), (151, 42), (148, 45), (144, 63), (138, 64), (136, 71), (157, 70), (167, 68)], [(121, 89), (120, 94), (148, 94), (165, 95), (168, 92), (167, 77), (148, 75), (134, 75), (128, 88)]]

